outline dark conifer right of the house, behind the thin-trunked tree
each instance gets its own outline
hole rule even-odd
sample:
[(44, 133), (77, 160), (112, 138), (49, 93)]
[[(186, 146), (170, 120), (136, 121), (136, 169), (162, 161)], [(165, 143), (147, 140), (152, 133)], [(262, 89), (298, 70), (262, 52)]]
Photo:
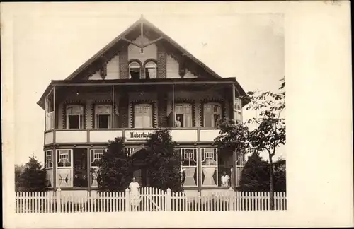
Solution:
[(254, 151), (242, 170), (240, 187), (245, 192), (268, 192), (270, 170), (268, 163)]

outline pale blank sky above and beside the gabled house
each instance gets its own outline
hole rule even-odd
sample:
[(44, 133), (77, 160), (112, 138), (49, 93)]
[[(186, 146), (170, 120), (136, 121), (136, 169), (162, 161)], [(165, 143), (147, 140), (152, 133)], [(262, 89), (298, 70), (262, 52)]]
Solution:
[[(16, 164), (30, 155), (43, 161), (44, 110), (36, 102), (50, 81), (67, 78), (142, 14), (217, 74), (236, 77), (245, 91), (278, 90), (285, 75), (282, 15), (217, 13), (217, 4), (199, 4), (198, 13), (191, 9), (195, 5), (187, 10), (165, 5), (42, 3), (16, 10), (15, 127), (16, 142), (21, 142)], [(255, 115), (244, 111), (244, 120)], [(275, 158), (285, 155), (281, 147)]]

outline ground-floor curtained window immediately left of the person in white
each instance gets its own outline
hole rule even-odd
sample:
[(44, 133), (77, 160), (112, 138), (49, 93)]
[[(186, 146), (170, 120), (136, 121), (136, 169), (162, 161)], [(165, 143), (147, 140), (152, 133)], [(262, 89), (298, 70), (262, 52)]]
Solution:
[(201, 148), (202, 186), (217, 186), (217, 148)]

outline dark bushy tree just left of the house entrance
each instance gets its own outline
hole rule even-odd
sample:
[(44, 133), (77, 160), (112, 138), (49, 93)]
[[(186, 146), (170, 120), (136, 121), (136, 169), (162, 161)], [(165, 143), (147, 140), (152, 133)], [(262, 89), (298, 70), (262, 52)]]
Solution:
[(108, 141), (98, 169), (98, 189), (101, 191), (124, 191), (131, 182), (132, 162), (124, 149), (124, 139), (117, 137)]

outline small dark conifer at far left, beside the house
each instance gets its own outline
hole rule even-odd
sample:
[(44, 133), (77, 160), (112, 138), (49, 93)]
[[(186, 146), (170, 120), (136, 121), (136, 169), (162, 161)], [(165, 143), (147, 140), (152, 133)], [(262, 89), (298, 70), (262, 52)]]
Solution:
[(35, 156), (32, 156), (18, 176), (18, 187), (25, 192), (43, 192), (45, 191), (45, 178), (45, 169)]

